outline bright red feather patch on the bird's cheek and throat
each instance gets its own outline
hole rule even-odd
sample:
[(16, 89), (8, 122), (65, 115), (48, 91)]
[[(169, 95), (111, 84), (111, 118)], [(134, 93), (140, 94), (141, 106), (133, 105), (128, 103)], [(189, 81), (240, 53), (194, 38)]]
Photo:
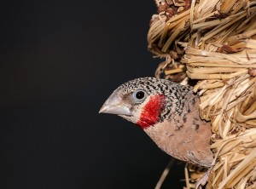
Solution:
[(142, 129), (147, 129), (149, 126), (153, 125), (154, 123), (159, 122), (159, 115), (160, 115), (161, 109), (164, 106), (164, 100), (165, 100), (164, 95), (150, 96), (148, 103), (146, 104), (146, 106), (143, 107), (141, 116), (137, 121), (137, 124)]

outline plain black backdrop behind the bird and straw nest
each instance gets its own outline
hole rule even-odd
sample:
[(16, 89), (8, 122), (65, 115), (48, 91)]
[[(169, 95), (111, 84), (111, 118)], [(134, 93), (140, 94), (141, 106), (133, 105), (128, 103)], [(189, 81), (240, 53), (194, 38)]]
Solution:
[[(98, 111), (119, 84), (154, 76), (155, 12), (153, 0), (1, 4), (1, 188), (154, 188), (170, 157)], [(179, 179), (183, 164), (163, 188)]]

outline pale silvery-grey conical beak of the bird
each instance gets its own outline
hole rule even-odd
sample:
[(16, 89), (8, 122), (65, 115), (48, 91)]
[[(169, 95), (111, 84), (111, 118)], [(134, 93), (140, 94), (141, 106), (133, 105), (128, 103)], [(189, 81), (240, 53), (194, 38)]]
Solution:
[(103, 104), (99, 113), (112, 113), (117, 115), (131, 116), (130, 109), (124, 105), (117, 91), (113, 91), (108, 100)]

